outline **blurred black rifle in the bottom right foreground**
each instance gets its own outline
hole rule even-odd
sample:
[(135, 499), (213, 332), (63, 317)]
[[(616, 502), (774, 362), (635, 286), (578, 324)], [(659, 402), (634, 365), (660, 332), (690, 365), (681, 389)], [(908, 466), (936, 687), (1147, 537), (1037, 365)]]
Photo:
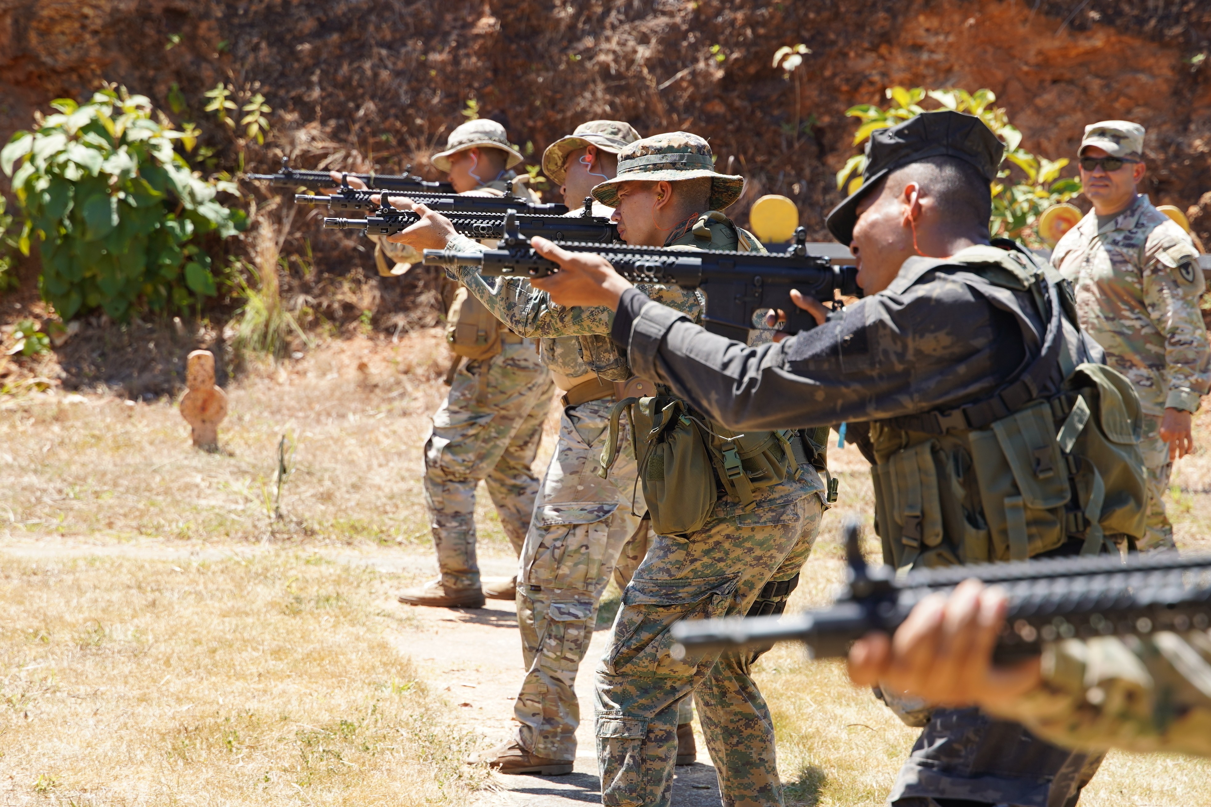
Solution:
[(969, 577), (1009, 595), (994, 659), (1035, 656), (1045, 641), (1155, 630), (1204, 630), (1211, 624), (1211, 555), (1176, 552), (1096, 558), (1055, 558), (911, 571), (896, 580), (890, 566), (868, 567), (856, 521), (845, 525), (849, 572), (837, 603), (785, 617), (730, 617), (673, 626), (675, 656), (685, 651), (807, 644), (814, 658), (838, 658), (872, 630), (894, 633), (922, 599)]

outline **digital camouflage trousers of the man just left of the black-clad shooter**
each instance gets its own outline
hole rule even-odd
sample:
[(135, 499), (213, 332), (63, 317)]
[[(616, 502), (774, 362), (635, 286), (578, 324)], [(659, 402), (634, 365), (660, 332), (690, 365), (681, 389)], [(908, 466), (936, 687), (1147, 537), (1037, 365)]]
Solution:
[(754, 506), (719, 501), (689, 540), (658, 535), (622, 593), (597, 668), (602, 803), (667, 807), (678, 705), (690, 693), (728, 807), (782, 805), (769, 709), (752, 652), (675, 659), (670, 627), (747, 613), (768, 582), (799, 573), (823, 512), (814, 471), (762, 489)]

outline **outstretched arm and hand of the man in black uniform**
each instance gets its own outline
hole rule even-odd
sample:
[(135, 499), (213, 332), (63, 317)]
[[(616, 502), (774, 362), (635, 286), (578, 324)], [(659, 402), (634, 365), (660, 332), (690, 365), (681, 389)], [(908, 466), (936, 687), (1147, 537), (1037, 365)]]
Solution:
[(632, 288), (609, 264), (541, 238), (561, 265), (535, 281), (557, 302), (618, 306), (612, 336), (631, 369), (729, 428), (809, 428), (895, 417), (992, 394), (1025, 359), (1012, 315), (947, 275), (880, 292), (820, 327), (748, 347)]

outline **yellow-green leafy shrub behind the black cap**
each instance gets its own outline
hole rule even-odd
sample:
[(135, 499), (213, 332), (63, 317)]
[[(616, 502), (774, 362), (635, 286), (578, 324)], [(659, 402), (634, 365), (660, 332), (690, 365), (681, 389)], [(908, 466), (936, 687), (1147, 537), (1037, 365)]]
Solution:
[[(997, 96), (991, 90), (925, 90), (924, 87), (889, 87), (886, 97), (893, 103), (886, 109), (873, 104), (850, 106), (845, 114), (861, 121), (854, 133), (854, 145), (860, 145), (871, 133), (901, 123), (926, 111), (920, 104), (926, 98), (936, 100), (946, 109), (978, 116), (1004, 143), (1005, 160), (1021, 169), (1025, 178), (1011, 175), (1010, 166), (997, 174), (992, 184), (992, 221), (989, 231), (994, 236), (1016, 238), (1028, 247), (1040, 247), (1043, 240), (1034, 232), (1039, 214), (1052, 204), (1067, 202), (1080, 194), (1080, 178), (1061, 177), (1068, 158), (1048, 160), (1021, 148), (1022, 133), (1009, 122), (1009, 114), (994, 106)], [(837, 173), (837, 188), (853, 192), (861, 184), (861, 172), (866, 166), (865, 155), (854, 155)]]

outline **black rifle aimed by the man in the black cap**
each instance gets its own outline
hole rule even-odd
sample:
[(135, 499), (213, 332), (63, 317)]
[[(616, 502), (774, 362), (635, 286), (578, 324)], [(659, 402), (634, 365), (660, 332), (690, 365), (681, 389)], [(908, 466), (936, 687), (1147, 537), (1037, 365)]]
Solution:
[[(483, 253), (426, 249), (425, 263), (481, 266), (481, 275), (506, 277), (546, 277), (559, 270), (558, 264), (539, 255), (529, 241), (516, 232), (516, 225), (510, 226), (506, 221), (504, 230), (506, 235), (498, 249)], [(787, 333), (816, 327), (815, 318), (791, 301), (791, 289), (827, 302), (834, 301), (836, 292), (845, 296), (862, 296), (855, 267), (833, 266), (826, 256), (807, 254), (805, 242), (807, 231), (799, 227), (796, 244), (790, 252), (777, 255), (578, 242), (559, 246), (572, 252), (597, 253), (633, 283), (668, 283), (701, 289), (706, 295), (702, 321), (707, 330), (744, 340), (748, 329), (757, 327), (754, 317), (770, 309), (785, 312), (782, 329)]]

